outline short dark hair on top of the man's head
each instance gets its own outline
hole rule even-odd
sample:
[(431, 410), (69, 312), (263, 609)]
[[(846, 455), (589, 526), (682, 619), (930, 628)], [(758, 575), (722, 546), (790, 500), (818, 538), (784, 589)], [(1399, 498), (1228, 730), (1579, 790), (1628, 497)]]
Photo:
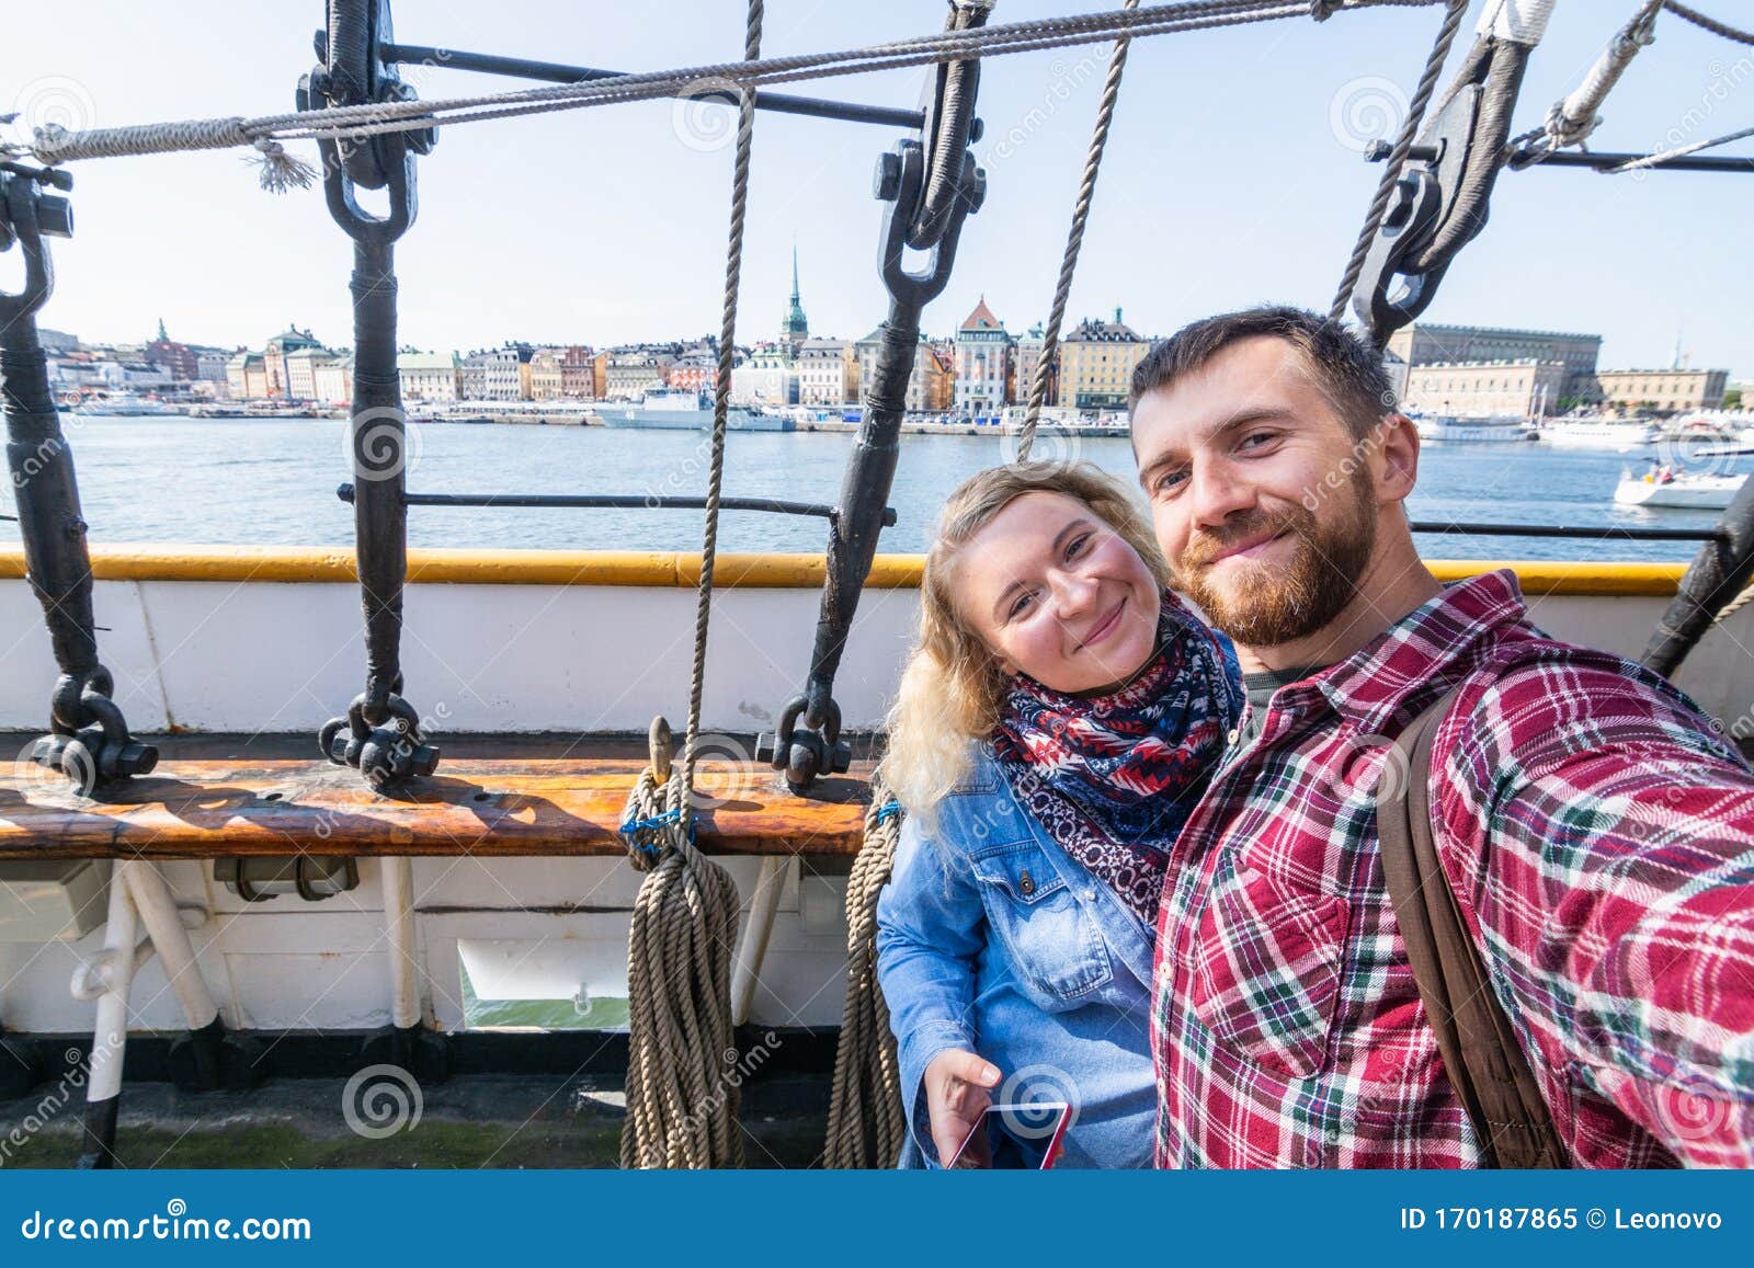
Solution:
[(1203, 317), (1154, 344), (1133, 370), (1128, 414), (1138, 409), (1145, 393), (1194, 374), (1231, 344), (1258, 335), (1282, 338), (1301, 353), (1316, 386), (1354, 440), (1363, 440), (1398, 409), (1382, 354), (1370, 344), (1338, 321), (1305, 309), (1263, 305)]

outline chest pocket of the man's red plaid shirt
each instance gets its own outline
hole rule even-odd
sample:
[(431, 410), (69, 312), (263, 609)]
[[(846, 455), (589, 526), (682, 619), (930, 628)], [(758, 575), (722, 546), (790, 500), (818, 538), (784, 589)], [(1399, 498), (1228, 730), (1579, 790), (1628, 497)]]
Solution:
[(1316, 1073), (1340, 996), (1347, 923), (1344, 898), (1289, 893), (1224, 858), (1194, 942), (1194, 1014), (1268, 1070)]

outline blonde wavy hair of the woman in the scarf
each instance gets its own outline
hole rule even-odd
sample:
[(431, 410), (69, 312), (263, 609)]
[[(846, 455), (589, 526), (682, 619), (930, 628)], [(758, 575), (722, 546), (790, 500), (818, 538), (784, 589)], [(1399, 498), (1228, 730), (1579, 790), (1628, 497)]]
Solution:
[(972, 766), (972, 744), (993, 735), (1009, 679), (998, 656), (956, 610), (956, 556), (1024, 493), (1073, 498), (1109, 524), (1168, 584), (1151, 524), (1126, 486), (1093, 463), (1033, 461), (966, 479), (944, 503), (919, 582), (919, 640), (889, 710), (881, 777), (909, 814), (930, 821)]

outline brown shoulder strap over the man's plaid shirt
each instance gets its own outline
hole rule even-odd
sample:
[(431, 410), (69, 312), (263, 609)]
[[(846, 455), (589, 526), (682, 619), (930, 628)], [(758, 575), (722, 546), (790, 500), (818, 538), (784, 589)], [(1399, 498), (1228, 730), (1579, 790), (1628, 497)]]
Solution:
[[(1384, 768), (1377, 800), (1382, 875), (1444, 1070), (1480, 1138), (1482, 1165), (1570, 1166), (1437, 854), (1431, 738), (1454, 695), (1447, 693), (1407, 726)], [(1396, 770), (1407, 777), (1396, 779)]]

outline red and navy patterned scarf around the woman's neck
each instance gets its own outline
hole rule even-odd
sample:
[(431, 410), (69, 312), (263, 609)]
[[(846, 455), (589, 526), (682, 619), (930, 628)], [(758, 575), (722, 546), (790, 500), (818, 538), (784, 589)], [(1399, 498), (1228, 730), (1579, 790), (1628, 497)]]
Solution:
[(1230, 640), (1165, 591), (1158, 651), (1137, 675), (1068, 696), (1019, 673), (991, 747), (1049, 837), (1152, 930), (1170, 845), (1240, 714)]

